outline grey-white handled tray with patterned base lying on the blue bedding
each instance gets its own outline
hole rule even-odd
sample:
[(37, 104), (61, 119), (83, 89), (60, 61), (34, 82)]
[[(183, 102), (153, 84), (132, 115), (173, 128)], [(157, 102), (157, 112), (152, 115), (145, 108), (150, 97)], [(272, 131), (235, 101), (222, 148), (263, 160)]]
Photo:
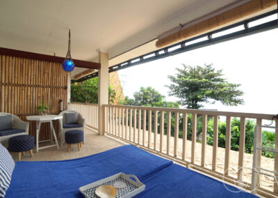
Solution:
[(123, 185), (121, 188), (117, 188), (117, 195), (115, 198), (129, 198), (133, 197), (143, 190), (145, 190), (145, 185), (142, 184), (138, 178), (133, 174), (118, 173), (113, 176), (101, 179), (94, 183), (84, 185), (79, 188), (79, 191), (87, 198), (99, 198), (95, 194), (95, 190), (101, 185), (114, 185), (115, 183)]

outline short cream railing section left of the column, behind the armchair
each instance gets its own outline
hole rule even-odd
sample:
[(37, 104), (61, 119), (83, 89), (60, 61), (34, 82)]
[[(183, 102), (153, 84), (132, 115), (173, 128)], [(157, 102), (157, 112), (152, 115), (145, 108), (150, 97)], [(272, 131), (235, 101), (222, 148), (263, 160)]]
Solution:
[(97, 130), (98, 128), (98, 105), (90, 103), (68, 103), (68, 109), (74, 109), (79, 112), (86, 121), (86, 125)]

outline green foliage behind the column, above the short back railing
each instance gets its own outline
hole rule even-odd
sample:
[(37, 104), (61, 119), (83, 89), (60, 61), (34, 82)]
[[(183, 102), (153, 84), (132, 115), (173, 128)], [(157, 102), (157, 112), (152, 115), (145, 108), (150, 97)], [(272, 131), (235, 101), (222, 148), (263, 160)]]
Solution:
[[(72, 82), (71, 84), (71, 102), (97, 103), (99, 91), (98, 77), (86, 79), (83, 82)], [(116, 92), (109, 86), (109, 102), (114, 102)]]

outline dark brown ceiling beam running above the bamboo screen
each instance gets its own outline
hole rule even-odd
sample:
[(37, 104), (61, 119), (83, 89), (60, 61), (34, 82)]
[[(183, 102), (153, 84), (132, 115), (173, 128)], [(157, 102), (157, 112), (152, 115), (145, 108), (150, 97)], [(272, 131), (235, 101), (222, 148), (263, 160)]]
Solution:
[[(63, 63), (63, 61), (65, 61), (65, 57), (50, 56), (46, 54), (37, 54), (33, 52), (25, 52), (20, 50), (11, 50), (3, 47), (0, 47), (0, 54), (5, 56), (20, 57), (24, 59), (35, 59), (40, 61), (52, 61), (58, 63)], [(100, 63), (95, 63), (91, 61), (82, 61), (77, 59), (72, 59), (72, 61), (74, 61), (74, 65), (77, 68), (89, 68), (89, 69), (97, 69), (97, 70), (100, 69)]]

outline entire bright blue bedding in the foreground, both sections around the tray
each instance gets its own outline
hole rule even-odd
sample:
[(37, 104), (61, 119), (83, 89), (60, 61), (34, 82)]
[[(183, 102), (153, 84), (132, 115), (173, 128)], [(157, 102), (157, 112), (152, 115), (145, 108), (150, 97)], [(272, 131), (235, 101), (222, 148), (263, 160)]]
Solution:
[(74, 160), (16, 162), (6, 197), (83, 197), (79, 187), (119, 172), (146, 185), (136, 197), (256, 197), (132, 145)]

